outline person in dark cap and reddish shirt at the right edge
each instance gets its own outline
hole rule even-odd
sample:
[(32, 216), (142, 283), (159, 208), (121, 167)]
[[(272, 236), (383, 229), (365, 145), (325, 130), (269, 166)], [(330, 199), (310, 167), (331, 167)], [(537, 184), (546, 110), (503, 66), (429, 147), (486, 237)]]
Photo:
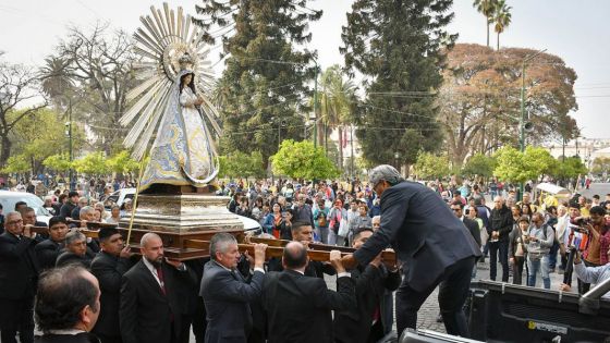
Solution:
[[(581, 209), (582, 215), (582, 209)], [(606, 223), (606, 210), (601, 207), (591, 207), (589, 210), (589, 222), (584, 223), (584, 228), (588, 233), (588, 246), (583, 253), (583, 260), (586, 267), (599, 267), (601, 265), (601, 232), (608, 230)], [(583, 216), (584, 217), (584, 216)], [(582, 217), (581, 217), (582, 218)], [(575, 220), (578, 221), (577, 219)], [(590, 283), (583, 282), (578, 279), (578, 293), (585, 294), (589, 291)]]

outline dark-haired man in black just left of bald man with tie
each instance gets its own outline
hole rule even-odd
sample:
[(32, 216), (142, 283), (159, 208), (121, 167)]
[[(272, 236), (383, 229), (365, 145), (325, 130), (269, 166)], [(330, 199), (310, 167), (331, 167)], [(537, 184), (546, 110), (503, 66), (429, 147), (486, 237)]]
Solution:
[(91, 273), (99, 281), (101, 310), (94, 333), (101, 343), (121, 343), (119, 306), (121, 279), (130, 270), (130, 247), (124, 246), (121, 233), (114, 228), (101, 228), (98, 234), (101, 252), (91, 262)]

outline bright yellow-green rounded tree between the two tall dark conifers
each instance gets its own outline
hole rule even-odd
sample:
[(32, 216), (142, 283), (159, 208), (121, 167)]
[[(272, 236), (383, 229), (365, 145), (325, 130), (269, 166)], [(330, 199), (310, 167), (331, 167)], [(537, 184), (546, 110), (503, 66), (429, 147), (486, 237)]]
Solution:
[(308, 140), (282, 142), (280, 150), (270, 160), (276, 174), (292, 179), (327, 180), (341, 174), (332, 161), (325, 156), (324, 149), (314, 148), (314, 144)]

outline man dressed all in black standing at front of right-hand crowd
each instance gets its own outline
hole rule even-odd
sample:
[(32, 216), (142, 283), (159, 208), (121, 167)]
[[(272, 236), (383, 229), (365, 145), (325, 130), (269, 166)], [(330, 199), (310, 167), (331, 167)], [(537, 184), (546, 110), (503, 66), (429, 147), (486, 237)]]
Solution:
[(509, 282), (509, 233), (513, 230), (513, 216), (504, 205), (504, 198), (493, 199), (493, 209), (489, 218), (489, 278), (496, 281), (498, 259), (502, 265), (502, 282)]

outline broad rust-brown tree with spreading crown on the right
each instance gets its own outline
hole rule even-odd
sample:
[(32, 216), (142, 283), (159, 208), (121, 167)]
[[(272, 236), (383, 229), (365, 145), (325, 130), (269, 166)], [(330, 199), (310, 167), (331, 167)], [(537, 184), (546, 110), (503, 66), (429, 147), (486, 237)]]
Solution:
[[(459, 44), (447, 53), (438, 105), (449, 156), (462, 166), (468, 155), (516, 145), (521, 111), (522, 64), (529, 49), (493, 51)], [(534, 125), (527, 140), (540, 145), (578, 135), (568, 114), (577, 109), (576, 73), (559, 57), (544, 53), (527, 65), (526, 110)]]

